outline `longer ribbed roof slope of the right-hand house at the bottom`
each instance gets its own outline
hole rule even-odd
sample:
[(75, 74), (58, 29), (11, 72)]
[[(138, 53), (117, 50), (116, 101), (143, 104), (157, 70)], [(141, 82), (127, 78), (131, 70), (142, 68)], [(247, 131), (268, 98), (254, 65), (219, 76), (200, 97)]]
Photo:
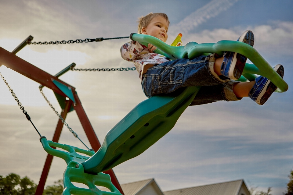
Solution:
[(237, 195), (242, 186), (243, 180), (215, 183), (204, 186), (195, 186), (163, 192), (165, 195)]

